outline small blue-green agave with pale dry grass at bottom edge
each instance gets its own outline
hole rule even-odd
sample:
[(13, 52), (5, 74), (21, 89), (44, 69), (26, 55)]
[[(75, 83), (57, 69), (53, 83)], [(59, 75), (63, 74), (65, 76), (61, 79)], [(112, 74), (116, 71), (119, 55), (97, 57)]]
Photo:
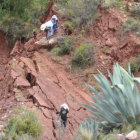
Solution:
[(97, 140), (98, 124), (94, 120), (86, 120), (80, 123), (80, 129), (75, 137), (75, 140)]

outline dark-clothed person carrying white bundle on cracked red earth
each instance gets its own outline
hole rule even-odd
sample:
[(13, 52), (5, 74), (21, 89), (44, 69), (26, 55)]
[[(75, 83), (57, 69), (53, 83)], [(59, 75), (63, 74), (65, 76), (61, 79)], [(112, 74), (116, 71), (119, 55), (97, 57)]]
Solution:
[(59, 113), (59, 116), (58, 116), (58, 119), (57, 119), (57, 123), (59, 122), (59, 117), (61, 117), (61, 126), (64, 126), (64, 128), (66, 128), (66, 125), (67, 125), (67, 114), (69, 113), (69, 107), (66, 103), (62, 104), (60, 106), (60, 112)]

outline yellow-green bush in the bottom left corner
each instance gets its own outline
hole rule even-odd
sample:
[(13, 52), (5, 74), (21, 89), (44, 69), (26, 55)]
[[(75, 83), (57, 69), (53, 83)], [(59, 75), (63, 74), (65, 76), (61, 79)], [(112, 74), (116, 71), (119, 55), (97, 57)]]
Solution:
[(42, 126), (38, 121), (36, 114), (32, 111), (24, 111), (21, 115), (14, 116), (10, 119), (7, 129), (5, 130), (5, 139), (16, 139), (20, 136), (30, 135), (38, 137), (42, 132)]

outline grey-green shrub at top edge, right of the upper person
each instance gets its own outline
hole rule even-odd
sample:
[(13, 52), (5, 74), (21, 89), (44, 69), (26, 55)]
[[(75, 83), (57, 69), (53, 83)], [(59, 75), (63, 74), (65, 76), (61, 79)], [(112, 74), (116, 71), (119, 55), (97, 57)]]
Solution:
[[(61, 0), (64, 1), (64, 0)], [(97, 18), (97, 8), (101, 0), (67, 0), (65, 7), (66, 18), (75, 28), (92, 24)]]

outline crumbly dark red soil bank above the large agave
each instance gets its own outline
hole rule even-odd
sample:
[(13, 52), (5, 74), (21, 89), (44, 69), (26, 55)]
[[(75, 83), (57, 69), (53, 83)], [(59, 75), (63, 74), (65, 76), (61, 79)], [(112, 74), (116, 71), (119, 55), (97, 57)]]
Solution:
[(96, 59), (101, 69), (112, 69), (116, 62), (127, 65), (139, 54), (140, 38), (123, 32), (126, 20), (125, 13), (114, 8), (103, 11), (93, 26), (90, 38), (98, 45)]

